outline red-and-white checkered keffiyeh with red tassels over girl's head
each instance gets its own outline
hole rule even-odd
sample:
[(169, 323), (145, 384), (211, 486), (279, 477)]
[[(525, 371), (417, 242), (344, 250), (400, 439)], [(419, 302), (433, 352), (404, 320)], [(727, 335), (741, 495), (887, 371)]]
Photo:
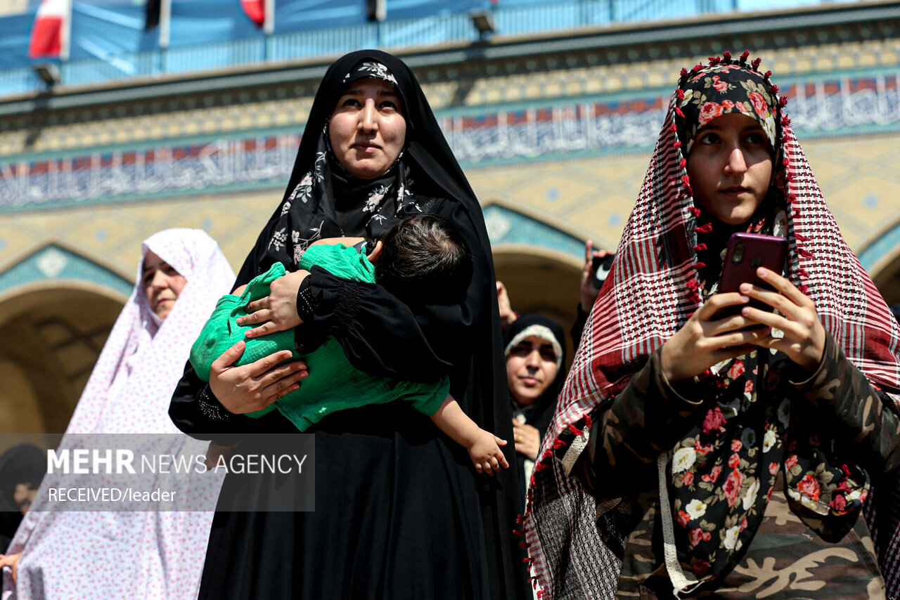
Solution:
[[(733, 62), (758, 72), (758, 59), (750, 66), (746, 57), (745, 52), (739, 62)], [(728, 55), (713, 58), (711, 66), (730, 60)], [(683, 72), (682, 82), (702, 68), (698, 65)], [(772, 92), (778, 94), (778, 87), (772, 85)], [(900, 328), (844, 242), (781, 110), (785, 103), (783, 99), (779, 102), (778, 115), (779, 157), (783, 160), (774, 168), (789, 206), (788, 277), (815, 301), (825, 329), (869, 381), (898, 390)], [(542, 600), (615, 596), (618, 561), (599, 538), (595, 500), (578, 480), (566, 475), (563, 464), (554, 459), (554, 449), (565, 443), (561, 434), (569, 434), (571, 439), (572, 428), (579, 434), (576, 425), (583, 426), (586, 417), (590, 424), (590, 413), (625, 389), (650, 354), (684, 325), (701, 300), (694, 249), (697, 209), (685, 168), (686, 153), (677, 135), (678, 104), (676, 91), (619, 242), (610, 281), (591, 311), (538, 454), (522, 529)], [(900, 405), (900, 398), (892, 398)], [(879, 523), (878, 533), (892, 536), (882, 547), (896, 549), (900, 545), (896, 523)], [(894, 572), (900, 569), (894, 567), (896, 557), (879, 559), (886, 567), (889, 592), (896, 592), (900, 587)]]

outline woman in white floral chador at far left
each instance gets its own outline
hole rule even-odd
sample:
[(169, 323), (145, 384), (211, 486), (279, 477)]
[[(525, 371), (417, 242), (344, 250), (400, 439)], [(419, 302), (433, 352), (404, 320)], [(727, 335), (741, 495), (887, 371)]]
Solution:
[[(193, 340), (232, 282), (234, 272), (205, 232), (176, 228), (148, 237), (134, 291), (103, 345), (67, 436), (170, 434), (182, 440), (184, 452), (202, 454), (205, 445), (181, 434), (167, 408)], [(195, 491), (214, 506), (221, 478), (207, 475)], [(58, 477), (44, 478), (4, 557), (16, 569), (15, 584), (11, 569), (4, 569), (4, 600), (196, 596), (211, 511), (42, 511)]]

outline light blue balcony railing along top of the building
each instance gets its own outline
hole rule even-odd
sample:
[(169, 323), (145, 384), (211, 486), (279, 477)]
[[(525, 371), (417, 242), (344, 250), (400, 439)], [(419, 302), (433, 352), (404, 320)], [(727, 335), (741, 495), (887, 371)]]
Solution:
[[(492, 12), (499, 34), (516, 35), (819, 4), (835, 3), (833, 0), (568, 0), (522, 4), (520, 0), (518, 5), (503, 5), (501, 0)], [(70, 60), (59, 67), (63, 84), (85, 85), (312, 58), (361, 48), (404, 49), (478, 39), (479, 33), (467, 13), (450, 13)], [(29, 67), (0, 72), (0, 96), (37, 91), (41, 87)]]

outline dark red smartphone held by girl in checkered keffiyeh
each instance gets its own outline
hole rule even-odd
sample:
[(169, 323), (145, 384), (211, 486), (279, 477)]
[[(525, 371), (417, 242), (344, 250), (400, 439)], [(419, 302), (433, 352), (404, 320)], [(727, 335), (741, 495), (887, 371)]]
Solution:
[[(728, 239), (725, 250), (725, 262), (719, 277), (717, 293), (740, 291), (744, 282), (758, 285), (761, 288), (773, 288), (762, 282), (756, 274), (757, 268), (764, 266), (770, 271), (781, 274), (784, 271), (785, 259), (788, 257), (788, 240), (778, 236), (764, 236), (757, 233), (735, 233)], [(772, 307), (759, 300), (750, 300), (747, 305), (757, 309), (772, 311)], [(722, 318), (741, 312), (745, 305), (728, 307), (717, 314)]]

